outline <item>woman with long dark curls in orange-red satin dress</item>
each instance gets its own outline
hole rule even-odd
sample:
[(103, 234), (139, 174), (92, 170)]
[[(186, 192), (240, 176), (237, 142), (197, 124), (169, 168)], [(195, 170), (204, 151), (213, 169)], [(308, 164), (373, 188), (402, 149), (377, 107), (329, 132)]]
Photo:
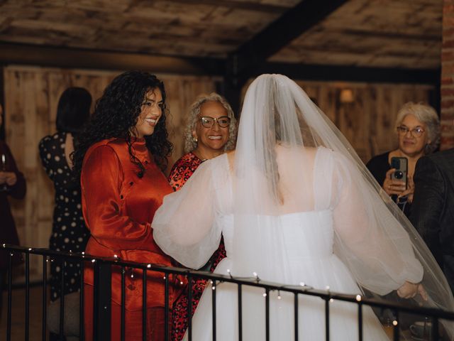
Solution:
[[(96, 102), (74, 153), (82, 212), (92, 236), (87, 253), (125, 261), (171, 265), (153, 240), (150, 222), (162, 197), (172, 192), (162, 171), (172, 144), (165, 128), (164, 84), (147, 72), (116, 77)], [(141, 272), (141, 271), (140, 271)], [(165, 338), (165, 280), (149, 272), (146, 340)], [(126, 276), (126, 340), (144, 340), (142, 274)], [(93, 337), (93, 269), (84, 273), (85, 340)], [(121, 273), (113, 269), (111, 340), (121, 339)], [(176, 291), (170, 288), (170, 304)]]

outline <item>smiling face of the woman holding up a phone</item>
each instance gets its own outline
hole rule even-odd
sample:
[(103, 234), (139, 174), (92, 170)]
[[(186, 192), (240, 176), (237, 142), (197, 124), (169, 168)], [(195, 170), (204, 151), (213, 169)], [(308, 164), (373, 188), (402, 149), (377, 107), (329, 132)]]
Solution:
[[(426, 144), (430, 143), (426, 124), (416, 119), (414, 115), (408, 114), (404, 117), (400, 126), (406, 127), (409, 131), (406, 134), (399, 133), (399, 149), (407, 156), (418, 156), (423, 153)], [(411, 133), (411, 130), (417, 128), (423, 129), (423, 133), (419, 137)]]

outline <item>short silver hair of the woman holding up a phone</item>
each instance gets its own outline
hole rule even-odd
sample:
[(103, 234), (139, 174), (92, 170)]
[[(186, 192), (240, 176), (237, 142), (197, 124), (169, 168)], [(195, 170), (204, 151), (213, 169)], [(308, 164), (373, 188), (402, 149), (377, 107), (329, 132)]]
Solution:
[(431, 141), (426, 145), (425, 153), (432, 153), (440, 144), (440, 119), (438, 114), (433, 107), (430, 105), (424, 104), (422, 102), (414, 103), (408, 102), (405, 103), (399, 112), (397, 112), (395, 128), (397, 129), (406, 115), (413, 115), (419, 121), (426, 124), (428, 139)]

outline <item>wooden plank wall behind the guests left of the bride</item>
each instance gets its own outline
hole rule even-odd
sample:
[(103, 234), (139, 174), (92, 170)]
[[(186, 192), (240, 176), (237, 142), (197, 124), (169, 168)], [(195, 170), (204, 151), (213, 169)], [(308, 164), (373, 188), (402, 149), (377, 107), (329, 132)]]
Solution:
[[(85, 87), (98, 98), (106, 85), (120, 72), (63, 70), (42, 67), (8, 66), (4, 68), (6, 141), (18, 167), (26, 175), (25, 200), (11, 200), (21, 244), (48, 247), (52, 228), (53, 185), (38, 156), (40, 139), (55, 131), (57, 102), (70, 86)], [(170, 139), (175, 152), (170, 166), (183, 153), (182, 132), (189, 105), (201, 92), (216, 90), (218, 79), (158, 75), (165, 82), (170, 109)], [(40, 273), (40, 259), (31, 259), (33, 274)]]

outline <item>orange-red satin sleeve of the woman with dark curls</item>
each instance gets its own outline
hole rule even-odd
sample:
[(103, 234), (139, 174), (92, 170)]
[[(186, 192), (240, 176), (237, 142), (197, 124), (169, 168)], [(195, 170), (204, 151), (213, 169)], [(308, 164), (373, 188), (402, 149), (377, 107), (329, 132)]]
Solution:
[(121, 212), (123, 171), (115, 151), (99, 146), (82, 166), (82, 210), (92, 237), (109, 249), (150, 249), (150, 223), (135, 222)]

